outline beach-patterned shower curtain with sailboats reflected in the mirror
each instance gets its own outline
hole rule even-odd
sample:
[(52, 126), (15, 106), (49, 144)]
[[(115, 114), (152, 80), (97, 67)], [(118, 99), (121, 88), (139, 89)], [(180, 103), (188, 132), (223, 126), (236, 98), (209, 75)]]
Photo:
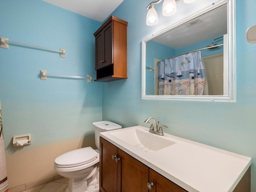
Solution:
[(159, 95), (203, 95), (205, 68), (201, 51), (158, 63)]

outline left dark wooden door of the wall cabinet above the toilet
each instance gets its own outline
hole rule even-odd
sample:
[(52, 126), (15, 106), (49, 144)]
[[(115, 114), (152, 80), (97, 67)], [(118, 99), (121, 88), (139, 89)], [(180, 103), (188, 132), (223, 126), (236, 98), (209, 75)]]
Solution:
[(102, 68), (103, 66), (103, 33), (99, 33), (95, 37), (95, 70)]

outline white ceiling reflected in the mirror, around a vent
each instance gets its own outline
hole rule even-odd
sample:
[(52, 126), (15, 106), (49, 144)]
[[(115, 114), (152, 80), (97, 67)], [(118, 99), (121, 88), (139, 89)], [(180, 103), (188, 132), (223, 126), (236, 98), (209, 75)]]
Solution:
[[(197, 19), (202, 22), (190, 27), (186, 26), (187, 23)], [(223, 34), (227, 34), (228, 30), (227, 6), (221, 6), (187, 23), (157, 36), (153, 41), (179, 49), (216, 36), (223, 36)], [(211, 41), (209, 41), (210, 44), (212, 44)]]

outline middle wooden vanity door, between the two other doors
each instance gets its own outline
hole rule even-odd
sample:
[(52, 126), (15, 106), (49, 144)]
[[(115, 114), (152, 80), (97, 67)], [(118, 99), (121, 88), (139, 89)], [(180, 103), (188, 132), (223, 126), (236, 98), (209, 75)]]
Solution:
[(148, 166), (118, 149), (118, 192), (148, 192)]

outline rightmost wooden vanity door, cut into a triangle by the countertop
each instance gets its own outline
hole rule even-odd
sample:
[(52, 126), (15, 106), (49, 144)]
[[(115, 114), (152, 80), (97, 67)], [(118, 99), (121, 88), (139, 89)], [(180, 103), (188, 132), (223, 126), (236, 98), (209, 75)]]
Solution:
[(149, 169), (149, 182), (154, 184), (150, 192), (187, 192), (152, 169)]

